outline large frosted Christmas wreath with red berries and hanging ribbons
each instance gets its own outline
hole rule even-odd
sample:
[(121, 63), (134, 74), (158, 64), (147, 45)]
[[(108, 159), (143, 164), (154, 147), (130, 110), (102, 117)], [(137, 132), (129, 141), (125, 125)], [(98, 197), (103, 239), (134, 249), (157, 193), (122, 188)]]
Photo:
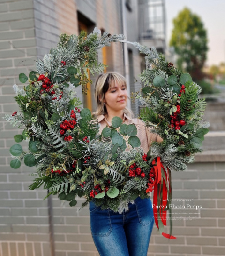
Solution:
[(13, 145), (10, 166), (19, 168), (21, 160), (37, 166), (30, 189), (44, 184), (47, 196), (58, 194), (70, 206), (76, 204), (76, 196), (85, 196), (83, 206), (94, 200), (102, 209), (122, 212), (139, 195), (146, 198), (154, 190), (157, 227), (165, 237), (174, 238), (163, 233), (172, 198), (171, 170), (185, 170), (185, 163), (201, 152), (209, 127), (203, 122), (206, 103), (198, 99), (201, 88), (189, 74), (167, 63), (155, 48), (133, 43), (147, 55), (148, 65), (141, 74), (142, 97), (136, 95), (143, 102), (140, 118), (163, 142), (153, 143), (144, 154), (135, 125), (123, 124), (119, 117), (99, 134), (98, 122), (90, 110), (82, 109), (75, 88), (82, 86), (86, 93), (89, 74), (105, 68), (98, 63), (97, 50), (123, 39), (123, 35), (101, 34), (97, 28), (89, 35), (62, 34), (58, 47), (37, 61), (36, 71), (29, 77), (19, 75), (22, 83), (28, 81), (24, 88), (13, 86), (20, 110), (5, 119), (23, 128), (22, 135), (14, 138), (17, 143), (29, 142), (29, 150)]

